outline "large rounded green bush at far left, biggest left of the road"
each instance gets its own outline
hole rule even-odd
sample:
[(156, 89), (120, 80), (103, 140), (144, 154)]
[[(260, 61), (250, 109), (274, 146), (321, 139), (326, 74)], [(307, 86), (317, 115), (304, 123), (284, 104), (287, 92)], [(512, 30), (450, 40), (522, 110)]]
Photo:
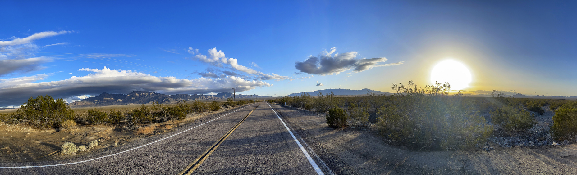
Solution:
[(51, 96), (28, 98), (28, 102), (18, 108), (15, 119), (25, 120), (28, 124), (39, 127), (59, 127), (63, 121), (74, 120), (74, 111), (66, 106), (62, 98), (54, 100)]

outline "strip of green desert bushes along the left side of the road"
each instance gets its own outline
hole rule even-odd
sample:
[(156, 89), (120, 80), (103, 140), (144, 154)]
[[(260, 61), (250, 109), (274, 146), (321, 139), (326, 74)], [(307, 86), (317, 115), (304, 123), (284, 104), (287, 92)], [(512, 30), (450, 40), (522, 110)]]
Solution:
[[(16, 113), (0, 114), (0, 121), (8, 124), (25, 124), (35, 128), (70, 129), (77, 125), (115, 124), (130, 127), (135, 124), (147, 124), (164, 121), (183, 120), (191, 113), (218, 111), (223, 106), (239, 106), (254, 100), (227, 102), (181, 101), (173, 106), (165, 106), (154, 102), (152, 105), (141, 105), (138, 109), (100, 111), (92, 108), (87, 112), (74, 112), (62, 98), (54, 99), (51, 96), (29, 98)], [(138, 131), (137, 135), (149, 134), (148, 131)], [(88, 147), (89, 148), (89, 147)]]

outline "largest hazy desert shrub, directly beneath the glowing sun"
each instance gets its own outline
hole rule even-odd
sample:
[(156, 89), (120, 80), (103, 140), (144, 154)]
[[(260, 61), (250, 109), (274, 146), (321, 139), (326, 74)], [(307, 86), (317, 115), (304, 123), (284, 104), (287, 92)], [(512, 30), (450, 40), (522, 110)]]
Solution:
[(417, 88), (413, 81), (408, 86), (393, 85), (397, 93), (383, 97), (383, 106), (377, 109), (377, 130), (392, 142), (416, 150), (459, 150), (484, 143), (492, 125), (477, 115), (474, 102), (460, 92), (449, 96), (450, 87), (435, 83)]

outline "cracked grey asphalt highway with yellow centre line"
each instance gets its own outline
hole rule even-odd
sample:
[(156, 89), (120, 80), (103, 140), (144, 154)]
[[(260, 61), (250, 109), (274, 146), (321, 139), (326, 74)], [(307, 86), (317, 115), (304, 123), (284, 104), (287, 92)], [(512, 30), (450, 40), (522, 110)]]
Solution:
[(267, 102), (205, 116), (170, 134), (0, 174), (331, 174)]

